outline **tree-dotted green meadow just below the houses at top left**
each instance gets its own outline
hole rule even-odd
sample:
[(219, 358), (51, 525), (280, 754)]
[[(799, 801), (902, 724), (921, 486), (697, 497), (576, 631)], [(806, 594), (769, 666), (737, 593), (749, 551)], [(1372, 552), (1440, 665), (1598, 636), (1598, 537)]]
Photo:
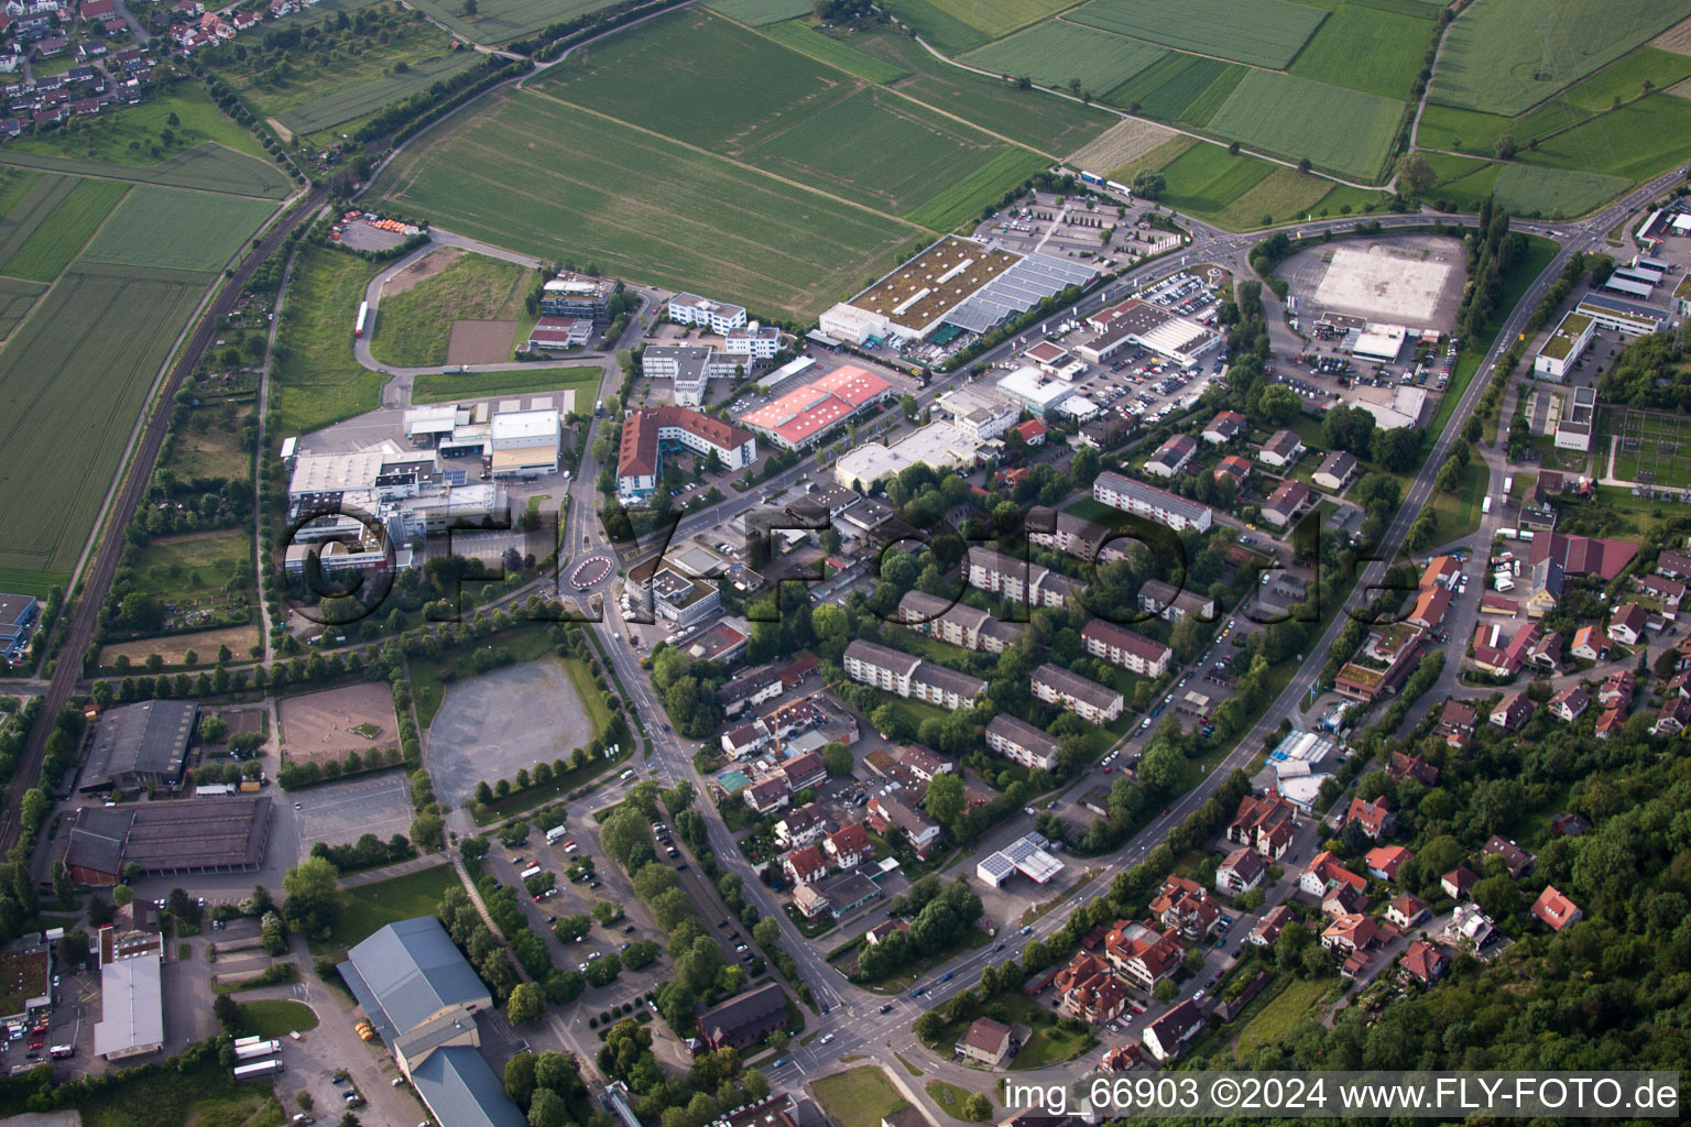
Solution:
[[(172, 113), (176, 125), (169, 123)], [(171, 130), (176, 140), (166, 144), (162, 140), (164, 130)], [(7, 152), (150, 167), (172, 154), (205, 142), (215, 142), (269, 164), (269, 157), (252, 139), (252, 133), (225, 117), (211, 101), (211, 95), (198, 83), (179, 83), (167, 93), (137, 106), (115, 106), (74, 127), (66, 125), (51, 133), (7, 142)], [(112, 174), (125, 176), (122, 171)]]

